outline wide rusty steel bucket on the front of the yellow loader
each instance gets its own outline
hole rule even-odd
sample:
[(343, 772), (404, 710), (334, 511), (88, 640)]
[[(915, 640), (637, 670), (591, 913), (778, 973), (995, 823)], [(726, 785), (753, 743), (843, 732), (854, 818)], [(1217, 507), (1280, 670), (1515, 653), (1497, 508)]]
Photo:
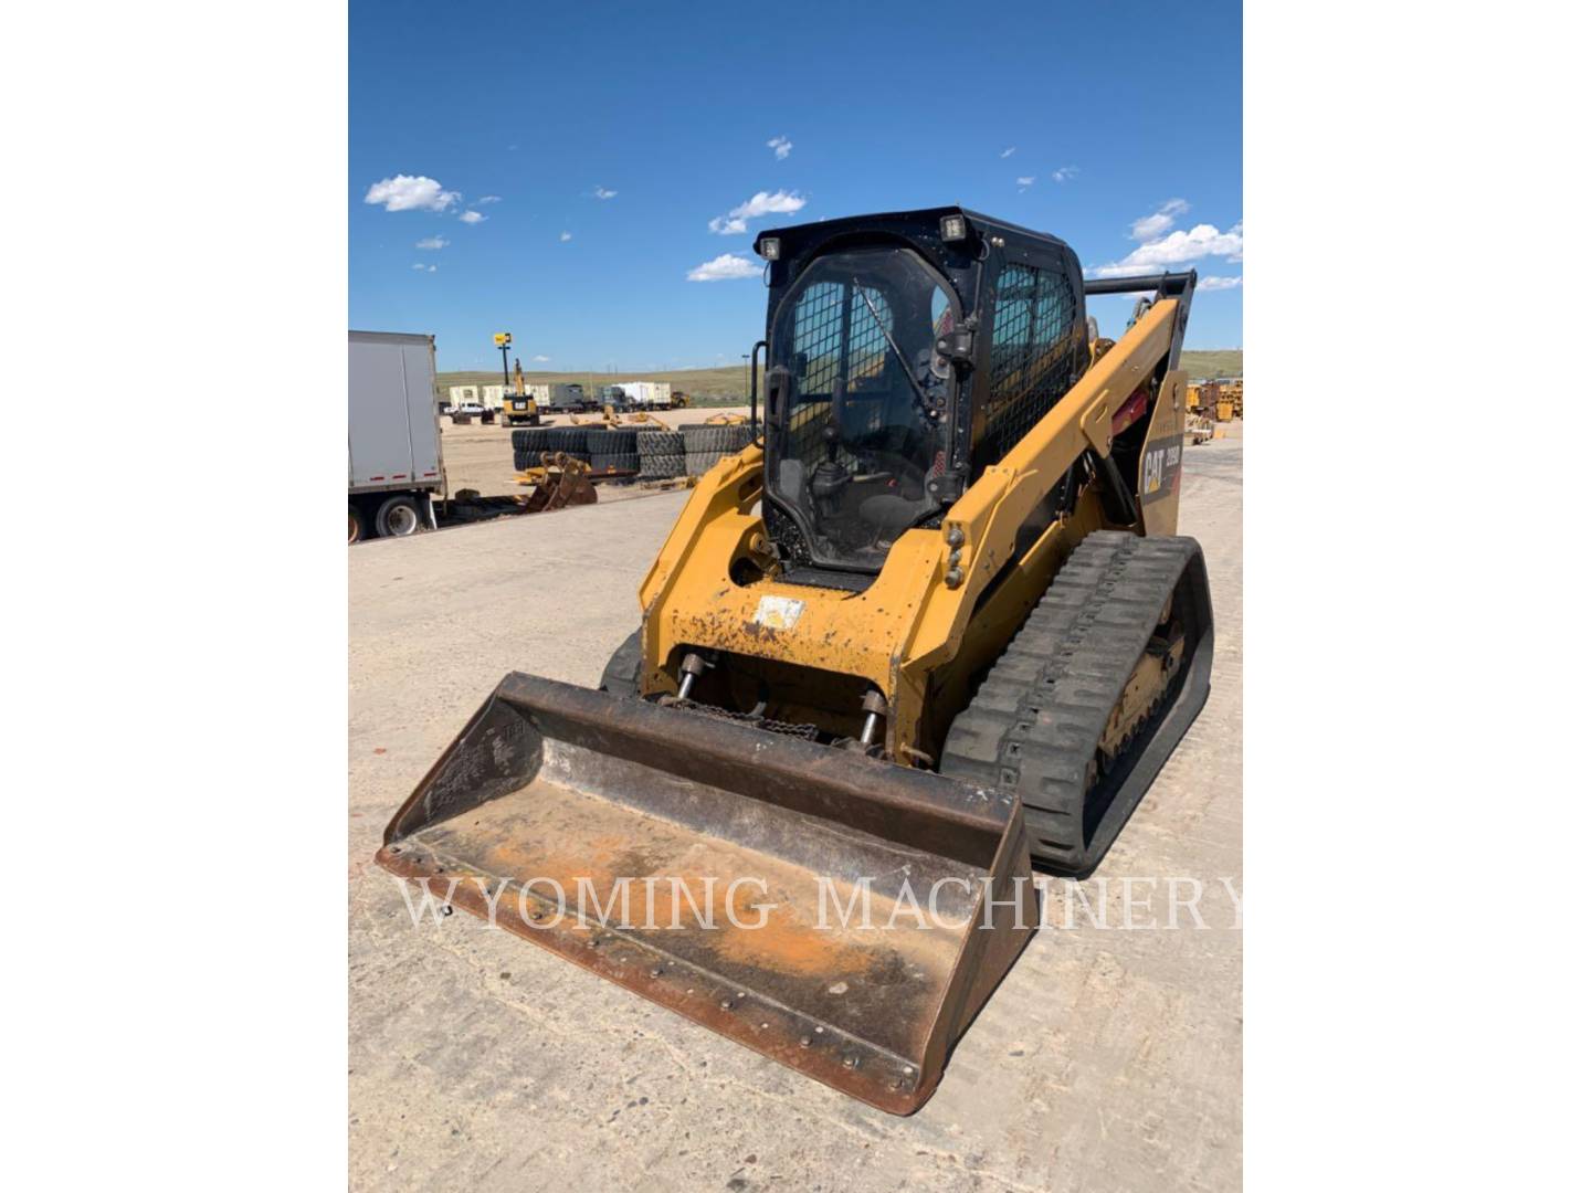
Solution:
[(1007, 795), (527, 674), (375, 861), (893, 1113), (934, 1093), (1036, 926)]

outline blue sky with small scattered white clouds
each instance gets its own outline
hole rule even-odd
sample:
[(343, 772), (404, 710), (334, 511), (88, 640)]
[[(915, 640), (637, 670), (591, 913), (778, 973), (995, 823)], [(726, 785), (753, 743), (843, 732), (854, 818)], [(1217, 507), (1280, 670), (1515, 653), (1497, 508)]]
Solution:
[(1187, 347), (1243, 344), (1238, 3), (353, 0), (348, 41), (348, 326), (441, 369), (495, 331), (527, 369), (737, 364), (759, 231), (953, 202), (1192, 264)]

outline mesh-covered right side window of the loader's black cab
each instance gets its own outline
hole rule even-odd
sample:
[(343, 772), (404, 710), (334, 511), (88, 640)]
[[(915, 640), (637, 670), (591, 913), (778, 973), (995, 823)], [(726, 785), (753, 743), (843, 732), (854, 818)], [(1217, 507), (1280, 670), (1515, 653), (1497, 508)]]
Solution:
[(1072, 383), (1077, 296), (1063, 274), (1010, 262), (994, 283), (985, 442), (1006, 455)]

